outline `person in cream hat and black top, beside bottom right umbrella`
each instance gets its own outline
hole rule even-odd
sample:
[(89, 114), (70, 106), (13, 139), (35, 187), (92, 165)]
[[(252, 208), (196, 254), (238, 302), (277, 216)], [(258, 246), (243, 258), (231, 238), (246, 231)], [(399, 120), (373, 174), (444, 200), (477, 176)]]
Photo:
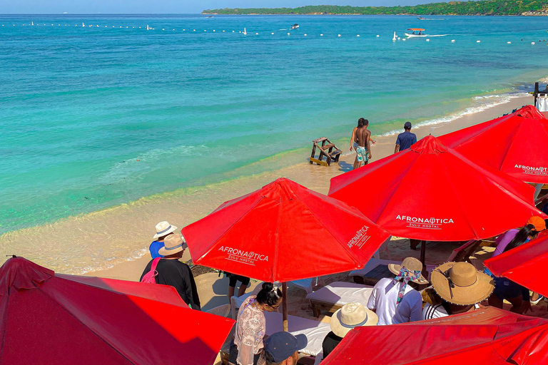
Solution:
[(331, 331), (325, 336), (322, 343), (323, 359), (342, 341), (354, 327), (376, 326), (377, 314), (365, 308), (361, 303), (347, 303), (338, 309), (331, 317)]

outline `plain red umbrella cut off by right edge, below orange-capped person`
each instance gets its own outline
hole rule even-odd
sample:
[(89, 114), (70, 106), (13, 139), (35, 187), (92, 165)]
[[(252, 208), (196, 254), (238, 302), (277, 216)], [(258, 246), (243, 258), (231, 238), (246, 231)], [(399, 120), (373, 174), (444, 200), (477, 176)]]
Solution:
[(548, 285), (542, 272), (548, 262), (548, 237), (539, 237), (524, 245), (484, 261), (497, 277), (507, 277), (534, 292), (548, 297)]

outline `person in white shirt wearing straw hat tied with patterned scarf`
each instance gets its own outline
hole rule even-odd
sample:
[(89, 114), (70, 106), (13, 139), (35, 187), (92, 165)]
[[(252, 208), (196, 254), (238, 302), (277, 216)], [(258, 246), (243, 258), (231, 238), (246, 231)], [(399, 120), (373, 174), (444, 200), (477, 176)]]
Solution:
[(367, 301), (367, 308), (379, 317), (378, 325), (398, 324), (422, 320), (422, 296), (411, 283), (428, 284), (422, 277), (422, 262), (407, 257), (402, 264), (388, 264), (394, 279), (382, 278), (375, 284)]

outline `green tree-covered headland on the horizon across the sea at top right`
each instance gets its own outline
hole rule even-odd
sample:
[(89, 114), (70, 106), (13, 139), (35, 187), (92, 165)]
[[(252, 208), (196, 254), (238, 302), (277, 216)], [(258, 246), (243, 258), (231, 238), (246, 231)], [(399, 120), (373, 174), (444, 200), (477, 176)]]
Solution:
[[(415, 15), (521, 15), (527, 11), (539, 11), (547, 0), (482, 0), (450, 1), (416, 6), (301, 6), (277, 9), (213, 9), (202, 14), (415, 14)], [(546, 9), (546, 8), (544, 8)]]

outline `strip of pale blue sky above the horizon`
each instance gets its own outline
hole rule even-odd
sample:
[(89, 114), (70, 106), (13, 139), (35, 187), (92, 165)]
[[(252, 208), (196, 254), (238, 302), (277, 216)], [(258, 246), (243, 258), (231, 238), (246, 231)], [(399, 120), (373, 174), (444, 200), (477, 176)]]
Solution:
[[(0, 0), (0, 14), (192, 14), (219, 8), (295, 8), (304, 5), (394, 6), (437, 0)], [(442, 1), (442, 0), (440, 0)]]

